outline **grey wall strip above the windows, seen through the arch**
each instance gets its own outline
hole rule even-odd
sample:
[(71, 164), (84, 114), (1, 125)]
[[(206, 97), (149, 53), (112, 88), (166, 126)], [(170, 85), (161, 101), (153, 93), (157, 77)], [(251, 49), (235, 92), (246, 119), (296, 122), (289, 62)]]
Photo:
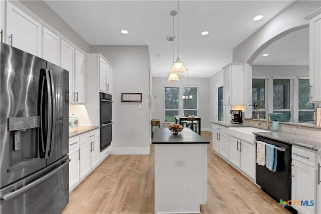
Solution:
[(308, 66), (292, 65), (253, 65), (252, 75), (255, 76), (285, 76), (285, 77), (308, 77)]

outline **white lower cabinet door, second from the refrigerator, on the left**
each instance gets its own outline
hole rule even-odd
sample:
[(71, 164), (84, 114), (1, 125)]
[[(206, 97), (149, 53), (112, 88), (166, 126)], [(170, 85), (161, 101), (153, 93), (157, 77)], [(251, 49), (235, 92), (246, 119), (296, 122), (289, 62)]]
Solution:
[(91, 142), (87, 141), (82, 144), (80, 143), (79, 149), (79, 175), (81, 179), (91, 170)]

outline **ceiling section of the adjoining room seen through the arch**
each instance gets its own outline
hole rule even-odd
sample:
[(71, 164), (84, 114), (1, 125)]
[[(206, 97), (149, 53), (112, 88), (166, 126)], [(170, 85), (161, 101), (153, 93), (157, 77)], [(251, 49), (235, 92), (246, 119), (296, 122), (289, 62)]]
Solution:
[[(269, 54), (263, 57), (263, 54)], [(309, 28), (294, 31), (264, 49), (253, 65), (309, 65)]]

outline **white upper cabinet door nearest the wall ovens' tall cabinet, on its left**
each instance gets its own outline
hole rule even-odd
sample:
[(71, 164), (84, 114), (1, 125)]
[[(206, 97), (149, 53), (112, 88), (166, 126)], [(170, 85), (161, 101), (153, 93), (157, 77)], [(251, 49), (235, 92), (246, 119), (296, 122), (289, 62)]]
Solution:
[(85, 76), (86, 57), (79, 51), (75, 51), (75, 103), (85, 103)]

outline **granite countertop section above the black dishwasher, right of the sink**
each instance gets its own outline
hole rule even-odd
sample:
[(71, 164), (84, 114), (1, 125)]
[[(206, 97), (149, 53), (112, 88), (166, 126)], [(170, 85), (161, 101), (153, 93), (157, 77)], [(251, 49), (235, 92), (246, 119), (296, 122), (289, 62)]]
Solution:
[(253, 132), (256, 136), (278, 140), (286, 144), (300, 146), (303, 148), (318, 151), (321, 156), (321, 137), (298, 134), (288, 131), (273, 131), (271, 132)]

